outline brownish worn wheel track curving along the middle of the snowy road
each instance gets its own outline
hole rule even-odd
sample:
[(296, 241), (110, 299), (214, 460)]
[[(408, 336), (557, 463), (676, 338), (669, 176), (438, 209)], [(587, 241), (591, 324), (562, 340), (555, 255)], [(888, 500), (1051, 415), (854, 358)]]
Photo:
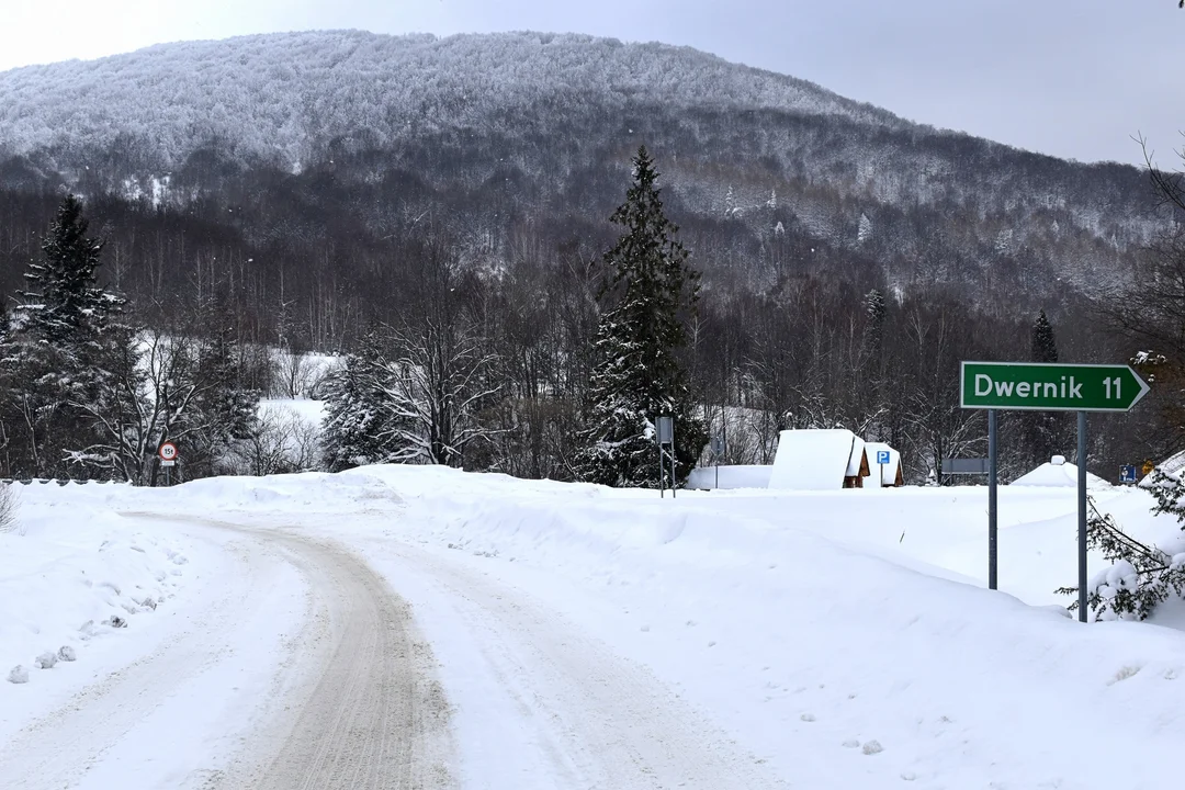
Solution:
[[(230, 527), (241, 529), (238, 527)], [(451, 786), (448, 704), (411, 610), (361, 559), (328, 544), (255, 532), (303, 566), (322, 636), (319, 669), (239, 767), (216, 788), (434, 790)], [(327, 637), (327, 638), (325, 638)], [(283, 732), (286, 731), (287, 732)], [(283, 733), (278, 739), (276, 734)], [(256, 763), (246, 769), (243, 764)]]

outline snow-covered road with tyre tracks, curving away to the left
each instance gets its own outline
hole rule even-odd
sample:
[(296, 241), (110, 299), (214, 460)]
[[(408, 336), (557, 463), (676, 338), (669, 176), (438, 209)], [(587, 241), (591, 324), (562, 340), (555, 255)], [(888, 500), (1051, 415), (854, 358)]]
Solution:
[[(414, 618), (333, 540), (130, 515), (217, 544), (233, 567), (165, 625), (159, 649), (17, 732), (0, 786), (783, 786), (640, 666), (465, 563), (384, 546), (386, 577), (421, 602)], [(460, 699), (446, 698), (416, 621), (463, 664), (448, 668)]]

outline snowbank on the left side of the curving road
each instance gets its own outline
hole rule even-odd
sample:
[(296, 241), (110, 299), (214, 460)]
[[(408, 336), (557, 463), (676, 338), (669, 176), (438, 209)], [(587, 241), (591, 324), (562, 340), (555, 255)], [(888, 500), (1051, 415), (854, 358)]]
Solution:
[[(17, 528), (0, 533), (0, 745), (30, 717), (168, 638), (207, 546), (117, 515), (122, 486), (13, 486)], [(193, 564), (191, 565), (191, 559)]]

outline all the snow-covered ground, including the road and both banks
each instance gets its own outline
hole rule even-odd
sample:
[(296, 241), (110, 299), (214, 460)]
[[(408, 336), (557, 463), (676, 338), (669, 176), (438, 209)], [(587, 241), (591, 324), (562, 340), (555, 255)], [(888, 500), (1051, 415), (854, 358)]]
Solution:
[[(1180, 630), (1046, 609), (1072, 583), (1072, 492), (1001, 496), (1005, 593), (976, 577), (975, 489), (672, 502), (392, 467), (28, 497), (27, 537), (0, 535), (0, 656), (78, 660), (0, 683), (6, 790), (1134, 790), (1176, 771)], [(1180, 534), (1142, 492), (1100, 501)], [(128, 628), (94, 624), (114, 615)], [(1081, 759), (1091, 737), (1114, 757)]]

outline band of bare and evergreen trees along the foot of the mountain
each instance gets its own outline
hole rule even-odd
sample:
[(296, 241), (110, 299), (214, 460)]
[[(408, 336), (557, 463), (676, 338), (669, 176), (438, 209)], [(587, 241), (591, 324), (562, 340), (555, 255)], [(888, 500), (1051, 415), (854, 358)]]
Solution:
[[(1146, 285), (1108, 301), (1127, 306), (1110, 319), (1100, 313), (1103, 306), (1082, 298), (1071, 302), (1072, 310), (1051, 311), (1052, 321), (1044, 311), (1033, 316), (969, 301), (959, 289), (893, 290), (871, 271), (850, 278), (801, 272), (754, 293), (728, 280), (700, 282), (694, 255), (664, 224), (665, 214), (653, 221), (630, 216), (619, 212), (616, 219), (674, 239), (674, 246), (654, 245), (662, 250), (655, 261), (684, 261), (694, 277), (686, 301), (675, 296), (665, 311), (655, 300), (667, 281), (654, 274), (639, 275), (643, 284), (633, 293), (649, 301), (639, 302), (633, 317), (629, 283), (617, 282), (617, 296), (607, 301), (621, 257), (614, 251), (634, 235), (614, 245), (611, 224), (597, 236), (608, 238), (602, 248), (608, 256), (575, 240), (549, 250), (524, 236), (511, 262), (491, 268), (469, 258), (446, 227), (425, 220), (401, 240), (398, 256), (373, 272), (371, 298), (341, 319), (341, 340), (326, 349), (341, 352), (342, 365), (322, 387), (329, 402), (322, 452), (310, 437), (299, 437), (294, 424), (261, 419), (255, 407), (260, 392), (302, 391), (300, 362), (277, 367), (263, 340), (288, 351), (307, 342), (296, 328), (303, 319), (287, 300), (303, 272), (282, 270), (267, 291), (278, 297), (275, 311), (235, 306), (231, 295), (250, 282), (248, 270), (239, 278), (233, 268), (203, 268), (214, 256), (200, 232), (190, 233), (199, 265), (185, 280), (178, 309), (167, 322), (147, 320), (150, 310), (136, 303), (142, 296), (127, 303), (116, 283), (135, 282), (129, 272), (139, 265), (148, 266), (150, 277), (175, 272), (164, 259), (113, 256), (110, 243), (89, 235), (81, 204), (68, 199), (51, 230), (34, 237), (40, 250), (26, 265), (28, 283), (4, 323), (2, 474), (152, 483), (161, 471), (156, 448), (175, 441), (184, 447), (187, 476), (385, 461), (646, 482), (638, 480), (649, 474), (645, 423), (667, 411), (679, 417), (683, 471), (700, 457), (707, 430), (729, 439), (725, 462), (768, 463), (779, 430), (841, 425), (901, 448), (912, 482), (939, 481), (942, 457), (984, 451), (982, 416), (957, 405), (961, 360), (1114, 361), (1135, 342), (1157, 342), (1172, 359), (1185, 359), (1185, 351), (1165, 342), (1174, 326), (1171, 308), (1148, 317), (1151, 304), (1164, 302)], [(167, 212), (155, 220), (177, 221)], [(242, 243), (216, 225), (204, 230), (210, 240)], [(1172, 283), (1173, 266), (1185, 258), (1173, 238), (1157, 249), (1147, 283)], [(81, 268), (68, 270), (68, 259)], [(628, 358), (628, 352), (603, 353), (607, 327), (660, 314), (678, 319), (664, 329), (673, 334), (654, 347), (659, 351), (640, 352), (646, 361), (636, 365), (606, 367), (607, 360)], [(654, 364), (662, 348), (672, 349), (670, 368)], [(632, 379), (635, 368), (641, 377)], [(1155, 374), (1172, 380), (1172, 370), (1166, 365)], [(665, 384), (646, 394), (652, 381)], [(635, 412), (614, 405), (627, 391)], [(684, 393), (681, 405), (666, 400), (672, 392)], [(1117, 467), (1155, 442), (1167, 449), (1180, 441), (1180, 432), (1165, 430), (1179, 422), (1173, 394), (1154, 391), (1149, 400), (1159, 405), (1095, 420), (1095, 467)], [(628, 413), (623, 432), (611, 426)], [(1006, 416), (1001, 429), (1006, 475), (1068, 452), (1072, 436), (1069, 423), (1053, 416)], [(609, 438), (615, 431), (619, 438)], [(752, 441), (738, 435), (745, 431)], [(634, 441), (642, 443), (628, 449)], [(620, 475), (597, 473), (590, 455), (596, 447), (635, 454), (633, 468), (643, 471), (626, 464), (615, 467), (627, 469)], [(293, 448), (299, 448), (295, 461)]]

